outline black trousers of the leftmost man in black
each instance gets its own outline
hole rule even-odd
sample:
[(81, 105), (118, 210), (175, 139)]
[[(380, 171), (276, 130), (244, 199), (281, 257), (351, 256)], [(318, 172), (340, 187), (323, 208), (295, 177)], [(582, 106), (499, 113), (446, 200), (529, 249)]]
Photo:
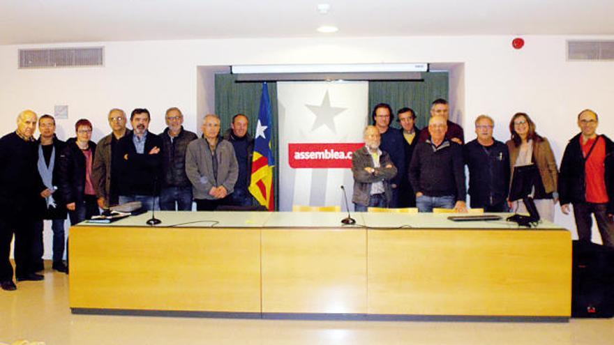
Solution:
[(36, 220), (31, 215), (0, 215), (0, 282), (13, 279), (10, 264), (10, 241), (15, 235), (15, 275), (23, 277), (33, 273), (32, 246)]

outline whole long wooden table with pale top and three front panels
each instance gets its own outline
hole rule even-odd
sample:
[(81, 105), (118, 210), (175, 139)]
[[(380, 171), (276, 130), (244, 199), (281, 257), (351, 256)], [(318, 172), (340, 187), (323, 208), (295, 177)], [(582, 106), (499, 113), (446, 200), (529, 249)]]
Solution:
[(440, 214), (160, 212), (70, 228), (87, 313), (415, 319), (571, 312), (571, 237)]

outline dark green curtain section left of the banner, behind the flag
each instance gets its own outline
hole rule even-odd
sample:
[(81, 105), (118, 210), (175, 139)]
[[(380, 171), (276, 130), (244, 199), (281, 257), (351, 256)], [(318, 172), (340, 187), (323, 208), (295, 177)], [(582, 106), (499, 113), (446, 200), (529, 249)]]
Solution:
[[(230, 74), (216, 75), (216, 114), (220, 116), (221, 132), (230, 128), (232, 116), (245, 114), (249, 120), (248, 133), (256, 132), (258, 123), (258, 110), (260, 109), (260, 96), (262, 95), (262, 83), (237, 83), (236, 76)], [(275, 158), (273, 194), (275, 209), (278, 209), (279, 191), (279, 150), (278, 145), (278, 116), (277, 116), (277, 83), (268, 82), (269, 101), (271, 102), (271, 149)]]

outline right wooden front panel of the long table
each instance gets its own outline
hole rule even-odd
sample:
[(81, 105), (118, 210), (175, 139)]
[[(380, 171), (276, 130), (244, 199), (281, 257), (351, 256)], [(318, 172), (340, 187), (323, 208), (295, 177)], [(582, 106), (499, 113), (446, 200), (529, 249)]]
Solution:
[(568, 231), (368, 231), (370, 314), (569, 316)]

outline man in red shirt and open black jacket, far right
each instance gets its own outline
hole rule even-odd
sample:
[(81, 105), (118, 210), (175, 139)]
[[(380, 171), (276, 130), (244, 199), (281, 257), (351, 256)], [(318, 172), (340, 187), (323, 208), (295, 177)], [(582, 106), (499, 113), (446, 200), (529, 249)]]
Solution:
[(597, 134), (599, 117), (585, 109), (578, 114), (581, 133), (565, 148), (558, 179), (561, 210), (574, 218), (580, 240), (590, 241), (592, 218), (604, 245), (614, 247), (614, 143)]

